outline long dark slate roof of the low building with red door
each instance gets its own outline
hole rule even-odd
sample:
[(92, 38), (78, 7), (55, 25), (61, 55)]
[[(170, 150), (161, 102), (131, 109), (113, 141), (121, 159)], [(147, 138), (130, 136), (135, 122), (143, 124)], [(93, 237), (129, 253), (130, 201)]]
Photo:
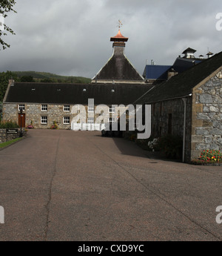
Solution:
[(128, 105), (135, 102), (136, 99), (150, 88), (150, 85), (135, 84), (104, 85), (15, 82), (14, 86), (10, 86), (4, 102), (87, 105), (88, 99), (94, 99), (95, 105)]

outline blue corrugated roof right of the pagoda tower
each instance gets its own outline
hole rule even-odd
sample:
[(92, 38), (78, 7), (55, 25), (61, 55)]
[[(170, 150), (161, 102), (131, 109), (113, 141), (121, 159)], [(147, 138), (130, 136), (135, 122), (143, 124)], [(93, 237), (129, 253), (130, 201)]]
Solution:
[(167, 79), (167, 70), (172, 68), (168, 65), (146, 65), (144, 70), (145, 79)]

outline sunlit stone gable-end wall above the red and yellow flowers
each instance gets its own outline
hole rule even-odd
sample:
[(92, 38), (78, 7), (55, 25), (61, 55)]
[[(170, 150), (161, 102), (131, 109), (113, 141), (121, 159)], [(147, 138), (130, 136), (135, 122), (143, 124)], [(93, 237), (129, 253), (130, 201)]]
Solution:
[(222, 150), (222, 78), (219, 77), (215, 75), (193, 90), (192, 159), (203, 150)]

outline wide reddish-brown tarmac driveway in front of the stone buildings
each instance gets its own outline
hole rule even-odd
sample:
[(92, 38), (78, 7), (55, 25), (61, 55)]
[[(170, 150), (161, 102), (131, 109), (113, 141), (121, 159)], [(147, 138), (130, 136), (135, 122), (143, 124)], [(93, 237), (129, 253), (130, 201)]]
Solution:
[(98, 131), (29, 130), (0, 151), (0, 240), (218, 241), (221, 185), (221, 166), (152, 159)]

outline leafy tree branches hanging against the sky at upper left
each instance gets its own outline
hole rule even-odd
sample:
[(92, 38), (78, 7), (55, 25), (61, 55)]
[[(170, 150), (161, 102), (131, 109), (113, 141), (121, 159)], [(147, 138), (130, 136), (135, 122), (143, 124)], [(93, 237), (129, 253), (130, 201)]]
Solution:
[[(16, 10), (13, 10), (13, 6), (16, 4), (15, 0), (1, 0), (0, 1), (0, 17), (6, 18), (7, 13), (14, 12), (16, 13)], [(1, 20), (0, 20), (1, 22)], [(14, 31), (8, 27), (6, 24), (0, 24), (0, 27), (4, 27), (3, 30), (0, 29), (0, 50), (1, 48), (4, 50), (7, 47), (10, 47), (10, 45), (7, 44), (7, 42), (4, 42), (2, 39), (2, 36), (7, 36), (7, 32), (15, 35)]]

